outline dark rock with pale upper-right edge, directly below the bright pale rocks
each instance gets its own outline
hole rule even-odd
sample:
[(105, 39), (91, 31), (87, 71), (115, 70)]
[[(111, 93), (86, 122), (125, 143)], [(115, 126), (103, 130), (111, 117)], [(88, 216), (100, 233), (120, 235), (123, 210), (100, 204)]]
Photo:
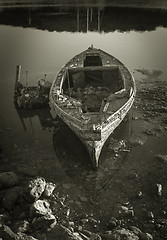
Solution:
[(55, 227), (57, 220), (54, 215), (47, 214), (33, 219), (32, 228), (34, 231), (47, 232)]

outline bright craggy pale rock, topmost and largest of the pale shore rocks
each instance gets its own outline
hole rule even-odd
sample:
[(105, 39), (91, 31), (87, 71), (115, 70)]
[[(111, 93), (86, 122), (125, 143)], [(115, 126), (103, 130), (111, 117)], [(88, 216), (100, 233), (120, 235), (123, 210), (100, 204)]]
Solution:
[(31, 180), (28, 184), (27, 189), (24, 192), (24, 197), (30, 202), (34, 202), (41, 197), (45, 190), (46, 181), (42, 177), (37, 177)]

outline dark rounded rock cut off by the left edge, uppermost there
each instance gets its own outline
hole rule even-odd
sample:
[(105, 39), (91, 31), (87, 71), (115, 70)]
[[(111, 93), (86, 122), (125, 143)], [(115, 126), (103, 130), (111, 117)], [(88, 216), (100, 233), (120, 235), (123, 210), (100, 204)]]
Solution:
[(14, 172), (0, 173), (0, 188), (9, 188), (17, 185), (19, 182)]

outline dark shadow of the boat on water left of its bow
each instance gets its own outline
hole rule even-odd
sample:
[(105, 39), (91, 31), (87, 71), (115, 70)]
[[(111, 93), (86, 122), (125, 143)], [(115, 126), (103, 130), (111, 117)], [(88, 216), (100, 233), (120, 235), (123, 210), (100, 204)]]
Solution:
[(56, 120), (53, 146), (63, 169), (70, 177), (92, 170), (91, 160), (83, 143), (60, 118), (57, 117)]

